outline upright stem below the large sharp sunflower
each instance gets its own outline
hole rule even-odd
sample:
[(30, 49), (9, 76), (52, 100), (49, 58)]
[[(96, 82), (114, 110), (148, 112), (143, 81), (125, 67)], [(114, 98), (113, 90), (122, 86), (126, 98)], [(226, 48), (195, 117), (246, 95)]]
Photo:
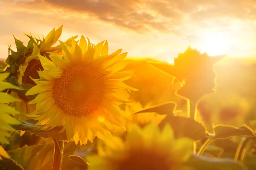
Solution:
[(53, 139), (53, 141), (55, 143), (54, 158), (53, 158), (53, 170), (61, 170), (64, 141), (58, 141), (57, 139)]

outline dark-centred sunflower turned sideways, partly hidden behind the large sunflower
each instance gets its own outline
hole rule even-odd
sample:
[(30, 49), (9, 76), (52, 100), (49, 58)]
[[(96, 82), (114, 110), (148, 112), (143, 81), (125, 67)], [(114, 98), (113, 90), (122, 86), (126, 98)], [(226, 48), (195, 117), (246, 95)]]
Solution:
[[(8, 63), (10, 66), (7, 68), (7, 71), (11, 72), (13, 69), (13, 75), (17, 78), (18, 82), (20, 84), (26, 84), (28, 89), (31, 88), (31, 86), (35, 86), (36, 84), (30, 79), (30, 77), (38, 79), (39, 75), (37, 71), (44, 70), (37, 55), (41, 54), (42, 56), (48, 57), (47, 52), (61, 54), (62, 51), (60, 45), (52, 47), (52, 45), (54, 45), (61, 36), (61, 33), (62, 26), (56, 30), (55, 28), (52, 29), (45, 39), (43, 38), (43, 40), (33, 38), (31, 35), (27, 35), (30, 38), (27, 46), (24, 46), (20, 40), (15, 38), (17, 52), (14, 52), (9, 47), (10, 55), (6, 59), (6, 63)], [(68, 44), (70, 44), (70, 42), (71, 39), (66, 41)], [(24, 98), (15, 92), (12, 92), (11, 95), (15, 96), (16, 98), (20, 98), (21, 102), (13, 103), (15, 109), (20, 113), (26, 114), (35, 111), (35, 104), (29, 105), (29, 100), (27, 98)], [(24, 114), (20, 114), (21, 120), (28, 119)]]

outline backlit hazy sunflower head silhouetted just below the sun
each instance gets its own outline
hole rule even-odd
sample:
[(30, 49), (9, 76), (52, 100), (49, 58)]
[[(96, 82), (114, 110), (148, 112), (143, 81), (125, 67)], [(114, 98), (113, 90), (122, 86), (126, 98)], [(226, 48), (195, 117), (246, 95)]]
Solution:
[(216, 74), (213, 65), (222, 58), (224, 55), (210, 57), (206, 52), (201, 53), (189, 46), (174, 59), (174, 65), (154, 62), (151, 64), (175, 76), (174, 82), (183, 84), (177, 90), (177, 95), (197, 103), (202, 96), (215, 92)]

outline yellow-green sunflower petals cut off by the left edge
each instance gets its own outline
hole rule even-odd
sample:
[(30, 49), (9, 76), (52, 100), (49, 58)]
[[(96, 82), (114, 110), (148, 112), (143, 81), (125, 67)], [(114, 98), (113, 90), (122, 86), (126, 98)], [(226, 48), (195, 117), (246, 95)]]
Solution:
[[(14, 108), (6, 105), (11, 102), (18, 102), (20, 99), (14, 98), (12, 95), (9, 95), (5, 92), (2, 92), (6, 89), (19, 89), (17, 86), (14, 86), (8, 82), (4, 82), (10, 73), (0, 73), (0, 143), (9, 144), (9, 141), (6, 137), (10, 136), (9, 132), (14, 132), (10, 124), (19, 124), (20, 121), (13, 118), (12, 116), (19, 114)], [(0, 146), (0, 159), (1, 156), (9, 158), (8, 154), (2, 146)]]

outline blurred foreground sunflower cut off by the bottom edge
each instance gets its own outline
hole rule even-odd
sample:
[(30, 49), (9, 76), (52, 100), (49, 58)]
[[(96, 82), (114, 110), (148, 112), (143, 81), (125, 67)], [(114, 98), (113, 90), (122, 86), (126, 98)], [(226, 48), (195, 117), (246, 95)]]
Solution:
[(98, 155), (88, 155), (90, 170), (178, 170), (192, 155), (190, 138), (174, 138), (169, 124), (127, 130), (125, 139), (110, 136), (97, 143)]

